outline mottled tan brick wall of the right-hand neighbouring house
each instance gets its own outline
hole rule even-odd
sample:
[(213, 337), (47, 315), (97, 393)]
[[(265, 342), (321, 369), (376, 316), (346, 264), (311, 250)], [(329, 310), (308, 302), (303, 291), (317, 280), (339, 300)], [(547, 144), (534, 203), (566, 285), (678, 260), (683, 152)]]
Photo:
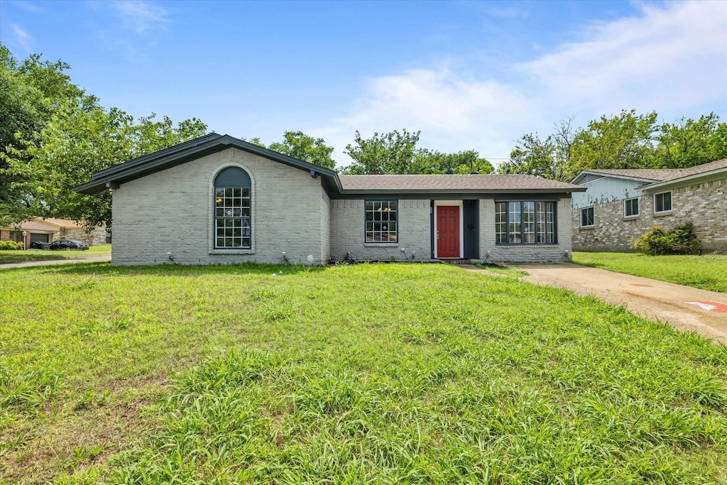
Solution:
[(574, 251), (633, 251), (633, 241), (654, 225), (668, 231), (690, 221), (703, 250), (727, 251), (727, 180), (675, 188), (673, 210), (663, 215), (654, 215), (653, 194), (638, 199), (638, 217), (624, 217), (623, 200), (595, 206), (593, 228), (581, 228), (580, 210), (573, 210)]

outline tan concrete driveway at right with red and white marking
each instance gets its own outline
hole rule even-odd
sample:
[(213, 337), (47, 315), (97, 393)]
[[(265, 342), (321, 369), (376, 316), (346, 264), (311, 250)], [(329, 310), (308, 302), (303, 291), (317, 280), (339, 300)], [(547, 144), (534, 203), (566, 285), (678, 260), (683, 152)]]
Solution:
[(727, 294), (569, 263), (510, 265), (526, 271), (523, 281), (557, 286), (626, 305), (633, 313), (667, 321), (727, 344)]

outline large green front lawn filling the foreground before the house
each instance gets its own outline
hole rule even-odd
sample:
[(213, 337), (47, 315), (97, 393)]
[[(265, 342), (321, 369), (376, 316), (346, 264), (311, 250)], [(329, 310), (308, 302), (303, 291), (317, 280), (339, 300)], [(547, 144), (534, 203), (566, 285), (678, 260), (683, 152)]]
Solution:
[(727, 476), (727, 347), (517, 278), (79, 263), (0, 321), (0, 483)]

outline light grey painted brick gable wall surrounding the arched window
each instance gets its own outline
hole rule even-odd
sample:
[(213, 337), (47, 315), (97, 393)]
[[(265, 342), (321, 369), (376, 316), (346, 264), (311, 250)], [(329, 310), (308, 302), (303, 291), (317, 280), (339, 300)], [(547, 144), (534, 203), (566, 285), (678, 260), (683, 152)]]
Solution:
[[(252, 180), (252, 250), (212, 249), (214, 177), (242, 167)], [(320, 177), (228, 148), (113, 191), (113, 265), (326, 262)]]

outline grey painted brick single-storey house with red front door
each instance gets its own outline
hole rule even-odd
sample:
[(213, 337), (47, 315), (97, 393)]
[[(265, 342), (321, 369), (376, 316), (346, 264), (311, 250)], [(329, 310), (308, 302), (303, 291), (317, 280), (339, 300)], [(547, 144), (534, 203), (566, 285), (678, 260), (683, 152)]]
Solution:
[(568, 260), (571, 192), (529, 175), (338, 175), (210, 134), (102, 170), (113, 264)]

